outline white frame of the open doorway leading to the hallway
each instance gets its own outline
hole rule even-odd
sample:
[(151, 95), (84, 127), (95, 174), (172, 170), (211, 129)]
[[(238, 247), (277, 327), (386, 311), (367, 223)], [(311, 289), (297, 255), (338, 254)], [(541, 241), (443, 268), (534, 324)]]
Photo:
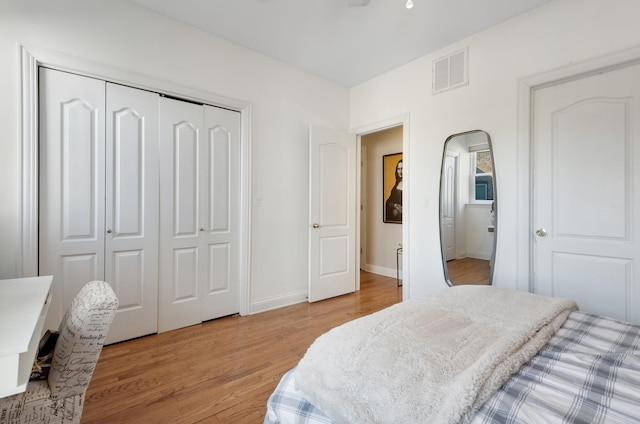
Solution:
[[(376, 133), (379, 131), (384, 131), (389, 128), (394, 127), (402, 127), (402, 157), (403, 157), (403, 175), (410, 175), (409, 172), (411, 170), (411, 161), (409, 156), (409, 121), (410, 114), (406, 113), (403, 115), (395, 116), (392, 118), (382, 119), (380, 121), (374, 122), (368, 125), (362, 125), (359, 127), (355, 127), (351, 129), (352, 133), (356, 134), (356, 152), (357, 152), (357, 161), (358, 166), (356, 167), (356, 201), (358, 207), (356, 208), (356, 269), (360, 270), (360, 229), (361, 229), (361, 219), (362, 219), (362, 210), (360, 205), (362, 204), (362, 167), (360, 163), (362, 161), (361, 153), (362, 153), (362, 136), (367, 134)], [(411, 184), (411, 179), (407, 178), (402, 181), (403, 191), (402, 191), (402, 204), (409, 205), (410, 191), (409, 186)], [(409, 222), (410, 222), (410, 212), (409, 208), (405, 207), (402, 210), (402, 246), (404, 254), (402, 255), (402, 298), (409, 299), (411, 293), (411, 284), (410, 284), (410, 268), (409, 268)], [(360, 272), (356, 272), (356, 291), (360, 290)]]

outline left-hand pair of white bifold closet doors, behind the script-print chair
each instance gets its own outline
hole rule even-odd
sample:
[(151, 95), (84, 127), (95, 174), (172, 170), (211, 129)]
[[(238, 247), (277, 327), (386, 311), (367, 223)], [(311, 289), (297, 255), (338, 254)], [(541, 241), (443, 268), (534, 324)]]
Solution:
[[(54, 275), (47, 325), (88, 281), (120, 305), (108, 343), (156, 332), (157, 95), (40, 70), (39, 273)], [(106, 125), (105, 125), (106, 123)]]

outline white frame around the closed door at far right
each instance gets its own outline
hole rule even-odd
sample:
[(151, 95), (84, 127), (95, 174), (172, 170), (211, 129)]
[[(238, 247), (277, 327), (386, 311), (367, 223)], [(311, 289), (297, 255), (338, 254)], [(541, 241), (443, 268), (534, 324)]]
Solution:
[(516, 289), (529, 291), (533, 272), (533, 93), (535, 90), (640, 61), (640, 47), (598, 56), (518, 81)]

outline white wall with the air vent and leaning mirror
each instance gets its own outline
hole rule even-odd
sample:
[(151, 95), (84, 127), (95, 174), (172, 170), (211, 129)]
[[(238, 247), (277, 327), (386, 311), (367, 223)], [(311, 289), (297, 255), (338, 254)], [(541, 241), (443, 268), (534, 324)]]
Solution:
[[(482, 129), (495, 151), (499, 205), (496, 284), (517, 287), (518, 81), (640, 45), (637, 0), (554, 0), (351, 90), (351, 127), (410, 115), (405, 149), (409, 296), (446, 288), (438, 190), (445, 139)], [(469, 85), (431, 94), (432, 61), (469, 47)], [(406, 224), (405, 217), (405, 224)]]

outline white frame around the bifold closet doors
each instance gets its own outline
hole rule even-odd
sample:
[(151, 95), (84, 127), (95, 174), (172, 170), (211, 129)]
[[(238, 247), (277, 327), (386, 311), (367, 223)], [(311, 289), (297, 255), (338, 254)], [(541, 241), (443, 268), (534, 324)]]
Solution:
[(21, 234), (18, 271), (22, 277), (38, 275), (39, 125), (38, 68), (46, 66), (92, 78), (160, 92), (185, 100), (234, 110), (241, 116), (240, 134), (240, 315), (249, 314), (251, 278), (251, 105), (206, 91), (129, 73), (110, 65), (36, 47), (20, 46), (21, 55)]

